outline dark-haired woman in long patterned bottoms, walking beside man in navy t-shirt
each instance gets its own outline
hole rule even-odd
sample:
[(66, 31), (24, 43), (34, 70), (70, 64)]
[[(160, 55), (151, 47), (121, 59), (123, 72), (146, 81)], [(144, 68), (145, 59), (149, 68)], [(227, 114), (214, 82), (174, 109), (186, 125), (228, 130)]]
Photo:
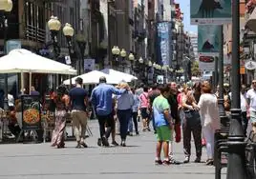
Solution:
[(67, 94), (67, 89), (64, 86), (60, 86), (57, 89), (57, 97), (55, 102), (55, 127), (53, 129), (52, 147), (58, 149), (64, 148), (64, 136), (66, 127), (67, 110), (69, 109), (70, 98)]

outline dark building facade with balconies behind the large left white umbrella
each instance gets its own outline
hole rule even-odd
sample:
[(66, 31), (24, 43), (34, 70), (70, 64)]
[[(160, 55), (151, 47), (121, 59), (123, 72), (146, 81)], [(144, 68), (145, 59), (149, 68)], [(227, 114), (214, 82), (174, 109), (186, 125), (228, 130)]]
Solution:
[[(52, 42), (50, 31), (47, 26), (48, 20), (52, 15), (57, 16), (64, 25), (70, 23), (75, 29), (75, 34), (79, 30), (79, 1), (30, 1), (18, 0), (12, 1), (13, 8), (11, 13), (7, 14), (9, 30), (7, 31), (7, 40), (16, 40), (20, 42), (21, 48), (32, 50), (40, 54), (41, 50), (48, 48), (48, 53), (52, 53)], [(62, 31), (62, 30), (61, 30)], [(61, 55), (68, 55), (66, 40), (62, 32), (58, 34), (58, 44), (61, 49)], [(4, 32), (0, 30), (0, 55), (4, 54)], [(48, 57), (53, 55), (48, 54)], [(59, 59), (57, 59), (59, 60)], [(19, 93), (20, 74), (10, 74), (9, 90), (16, 96)], [(0, 88), (5, 85), (3, 75), (0, 79)], [(28, 74), (24, 75), (26, 89), (29, 89)], [(48, 84), (47, 74), (32, 74), (32, 85), (43, 93)], [(28, 91), (28, 90), (27, 90)]]

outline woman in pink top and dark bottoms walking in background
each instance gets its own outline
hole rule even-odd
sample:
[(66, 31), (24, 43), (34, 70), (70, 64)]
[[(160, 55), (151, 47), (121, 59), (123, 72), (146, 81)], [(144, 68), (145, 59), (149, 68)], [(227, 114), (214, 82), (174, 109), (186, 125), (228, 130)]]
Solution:
[(142, 117), (143, 131), (150, 131), (149, 128), (149, 99), (148, 99), (148, 88), (144, 87), (143, 92), (139, 95), (140, 101), (140, 113)]

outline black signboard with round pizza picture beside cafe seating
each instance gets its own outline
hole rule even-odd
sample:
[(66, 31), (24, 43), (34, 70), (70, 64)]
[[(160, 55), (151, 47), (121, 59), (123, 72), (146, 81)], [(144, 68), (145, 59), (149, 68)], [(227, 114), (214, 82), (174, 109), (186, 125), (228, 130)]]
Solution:
[(41, 129), (40, 98), (36, 95), (22, 95), (22, 129)]

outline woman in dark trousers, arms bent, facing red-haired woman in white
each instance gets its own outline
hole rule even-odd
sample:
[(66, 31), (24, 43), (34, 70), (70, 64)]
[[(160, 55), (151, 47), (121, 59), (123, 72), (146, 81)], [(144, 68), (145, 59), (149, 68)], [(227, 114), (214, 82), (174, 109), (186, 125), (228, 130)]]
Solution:
[(184, 118), (182, 121), (183, 131), (183, 149), (185, 154), (184, 163), (189, 163), (191, 155), (191, 133), (196, 147), (196, 159), (195, 163), (201, 162), (202, 156), (202, 126), (200, 114), (196, 104), (196, 100), (193, 96), (193, 91), (187, 87), (183, 88), (182, 95), (182, 109), (184, 111)]

